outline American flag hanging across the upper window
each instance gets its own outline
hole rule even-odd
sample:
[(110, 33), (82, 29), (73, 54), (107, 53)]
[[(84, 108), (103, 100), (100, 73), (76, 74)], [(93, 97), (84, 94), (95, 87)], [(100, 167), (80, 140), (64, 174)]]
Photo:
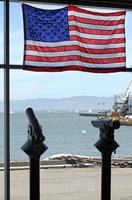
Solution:
[(107, 73), (126, 67), (125, 11), (94, 12), (77, 6), (44, 10), (22, 5), (24, 69)]

